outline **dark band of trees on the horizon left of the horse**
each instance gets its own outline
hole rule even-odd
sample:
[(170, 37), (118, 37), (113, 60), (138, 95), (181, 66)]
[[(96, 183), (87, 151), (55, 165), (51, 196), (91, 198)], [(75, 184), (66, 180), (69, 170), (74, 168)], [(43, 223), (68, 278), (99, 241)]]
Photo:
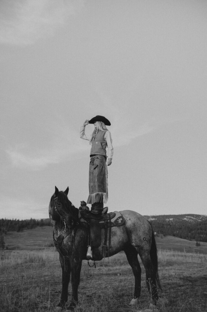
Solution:
[(6, 234), (9, 231), (21, 232), (24, 229), (33, 229), (34, 227), (42, 227), (51, 225), (49, 219), (30, 219), (30, 220), (17, 220), (17, 219), (0, 219), (0, 233)]

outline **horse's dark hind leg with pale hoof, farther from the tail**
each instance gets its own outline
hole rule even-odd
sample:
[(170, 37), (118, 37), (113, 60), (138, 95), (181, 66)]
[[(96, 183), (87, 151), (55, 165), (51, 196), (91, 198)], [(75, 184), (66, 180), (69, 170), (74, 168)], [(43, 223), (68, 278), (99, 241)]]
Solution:
[(127, 249), (125, 249), (125, 254), (129, 265), (132, 268), (135, 279), (134, 298), (130, 302), (130, 305), (135, 305), (137, 303), (137, 298), (139, 298), (141, 292), (141, 267), (137, 258), (137, 251), (134, 247), (129, 246)]

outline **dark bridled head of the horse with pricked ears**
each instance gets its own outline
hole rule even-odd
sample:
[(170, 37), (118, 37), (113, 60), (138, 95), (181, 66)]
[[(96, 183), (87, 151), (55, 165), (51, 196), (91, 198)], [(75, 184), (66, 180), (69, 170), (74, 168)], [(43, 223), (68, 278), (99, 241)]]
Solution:
[(78, 209), (68, 199), (67, 187), (65, 191), (59, 191), (55, 186), (55, 193), (49, 203), (49, 217), (54, 221), (65, 221), (68, 227), (73, 228), (73, 224), (78, 221)]

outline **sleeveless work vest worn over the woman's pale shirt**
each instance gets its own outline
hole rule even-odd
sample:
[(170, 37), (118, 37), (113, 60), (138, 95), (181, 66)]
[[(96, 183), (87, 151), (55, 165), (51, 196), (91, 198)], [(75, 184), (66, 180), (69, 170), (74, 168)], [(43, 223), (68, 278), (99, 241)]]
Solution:
[(98, 130), (92, 139), (90, 155), (104, 155), (106, 156), (106, 140), (104, 139), (105, 131)]

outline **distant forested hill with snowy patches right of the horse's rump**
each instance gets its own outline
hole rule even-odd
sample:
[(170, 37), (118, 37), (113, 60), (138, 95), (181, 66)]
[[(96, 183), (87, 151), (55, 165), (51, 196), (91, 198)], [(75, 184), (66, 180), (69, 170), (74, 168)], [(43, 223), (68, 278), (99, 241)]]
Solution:
[(207, 216), (197, 214), (145, 216), (154, 232), (189, 241), (207, 242)]

